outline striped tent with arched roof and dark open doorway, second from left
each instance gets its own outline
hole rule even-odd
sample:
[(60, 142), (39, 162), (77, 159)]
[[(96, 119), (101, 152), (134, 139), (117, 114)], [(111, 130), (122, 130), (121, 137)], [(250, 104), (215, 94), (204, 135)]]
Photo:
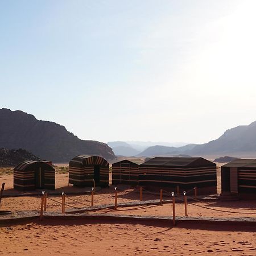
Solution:
[(109, 163), (101, 156), (76, 156), (69, 162), (69, 183), (79, 187), (108, 186)]

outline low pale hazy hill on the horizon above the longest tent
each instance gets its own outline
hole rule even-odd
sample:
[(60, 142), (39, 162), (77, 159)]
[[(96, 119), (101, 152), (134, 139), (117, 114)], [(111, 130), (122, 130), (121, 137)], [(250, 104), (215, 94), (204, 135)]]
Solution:
[(137, 156), (161, 156), (161, 155), (177, 155), (183, 154), (195, 147), (195, 144), (188, 144), (182, 147), (152, 146), (138, 154)]

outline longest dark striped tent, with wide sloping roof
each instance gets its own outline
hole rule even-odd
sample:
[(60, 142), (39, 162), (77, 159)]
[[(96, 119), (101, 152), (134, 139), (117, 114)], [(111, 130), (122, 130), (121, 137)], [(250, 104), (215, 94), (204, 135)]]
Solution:
[(204, 158), (155, 157), (139, 166), (139, 185), (217, 192), (216, 164)]

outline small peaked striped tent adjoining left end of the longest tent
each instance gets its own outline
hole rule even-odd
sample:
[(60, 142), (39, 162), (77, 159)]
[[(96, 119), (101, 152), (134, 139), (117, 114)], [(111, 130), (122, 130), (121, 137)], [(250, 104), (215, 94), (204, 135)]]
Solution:
[(112, 164), (112, 184), (138, 185), (139, 164), (122, 160)]

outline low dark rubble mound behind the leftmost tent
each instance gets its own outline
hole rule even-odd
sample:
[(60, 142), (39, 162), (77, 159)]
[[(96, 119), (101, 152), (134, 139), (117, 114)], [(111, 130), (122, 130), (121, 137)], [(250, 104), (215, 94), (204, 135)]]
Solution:
[(25, 160), (39, 161), (42, 160), (30, 152), (19, 148), (18, 150), (9, 150), (0, 148), (0, 166), (16, 166)]

